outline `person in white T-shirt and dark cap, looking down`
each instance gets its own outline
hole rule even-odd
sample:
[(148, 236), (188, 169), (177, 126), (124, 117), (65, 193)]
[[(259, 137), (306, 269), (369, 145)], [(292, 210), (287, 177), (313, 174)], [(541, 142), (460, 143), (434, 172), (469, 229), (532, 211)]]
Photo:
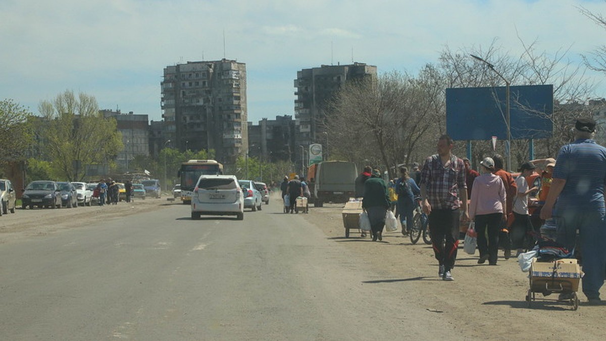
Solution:
[(530, 162), (522, 163), (518, 172), (520, 175), (516, 178), (516, 186), (518, 186), (518, 194), (513, 198), (513, 223), (509, 228), (511, 237), (511, 249), (517, 249), (516, 257), (524, 252), (524, 249), (529, 246), (531, 240), (528, 232), (534, 231), (533, 225), (528, 215), (528, 194), (538, 190), (538, 187), (528, 189), (528, 181), (526, 180), (533, 174), (534, 164)]

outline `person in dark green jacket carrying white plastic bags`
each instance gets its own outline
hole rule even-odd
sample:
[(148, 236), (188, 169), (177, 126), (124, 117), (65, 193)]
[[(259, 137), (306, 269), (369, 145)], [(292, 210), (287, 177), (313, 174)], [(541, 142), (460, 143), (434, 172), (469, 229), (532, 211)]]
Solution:
[(387, 214), (387, 210), (389, 209), (389, 198), (387, 183), (381, 178), (380, 170), (372, 170), (370, 179), (364, 182), (363, 195), (362, 208), (368, 214), (373, 241), (381, 241), (383, 240), (382, 233), (385, 226), (385, 214)]

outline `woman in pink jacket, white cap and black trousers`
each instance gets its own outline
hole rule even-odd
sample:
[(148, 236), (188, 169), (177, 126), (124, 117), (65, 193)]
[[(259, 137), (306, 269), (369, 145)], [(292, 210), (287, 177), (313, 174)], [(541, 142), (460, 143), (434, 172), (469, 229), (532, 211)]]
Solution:
[[(471, 189), (471, 203), (469, 206), (469, 218), (475, 221), (476, 232), (478, 232), (478, 249), (480, 259), (478, 264), (496, 265), (497, 252), (499, 251), (499, 226), (504, 219), (505, 208), (505, 186), (501, 177), (492, 174), (494, 161), (492, 158), (484, 158), (479, 177), (473, 181)], [(486, 239), (488, 230), (488, 240)]]

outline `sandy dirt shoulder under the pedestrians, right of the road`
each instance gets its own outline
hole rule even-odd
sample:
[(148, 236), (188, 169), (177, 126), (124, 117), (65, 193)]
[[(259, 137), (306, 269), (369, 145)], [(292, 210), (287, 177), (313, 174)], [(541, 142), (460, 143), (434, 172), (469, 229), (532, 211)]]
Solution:
[[(462, 246), (453, 269), (454, 282), (442, 281), (433, 249), (422, 240), (412, 245), (399, 231), (384, 232), (382, 242), (362, 239), (357, 230), (350, 230), (350, 238), (345, 238), (342, 207), (325, 204), (324, 208), (310, 208), (303, 216), (328, 239), (365, 255), (365, 261), (384, 276), (384, 282), (398, 283), (402, 297), (395, 299), (412, 302), (422, 311), (436, 311), (435, 323), (448, 323), (459, 336), (484, 340), (596, 340), (606, 336), (606, 306), (588, 306), (580, 288), (577, 311), (572, 311), (569, 303), (544, 300), (531, 302), (528, 308), (528, 277), (516, 258), (505, 260), (501, 251), (497, 266), (478, 265), (477, 252), (465, 254)], [(539, 299), (558, 296), (536, 295)]]

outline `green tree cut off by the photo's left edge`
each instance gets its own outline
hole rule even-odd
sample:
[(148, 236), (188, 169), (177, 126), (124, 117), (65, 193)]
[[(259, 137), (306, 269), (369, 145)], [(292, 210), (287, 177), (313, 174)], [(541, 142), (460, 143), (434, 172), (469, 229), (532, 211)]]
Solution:
[(32, 113), (12, 100), (0, 101), (0, 162), (25, 160), (33, 144)]

